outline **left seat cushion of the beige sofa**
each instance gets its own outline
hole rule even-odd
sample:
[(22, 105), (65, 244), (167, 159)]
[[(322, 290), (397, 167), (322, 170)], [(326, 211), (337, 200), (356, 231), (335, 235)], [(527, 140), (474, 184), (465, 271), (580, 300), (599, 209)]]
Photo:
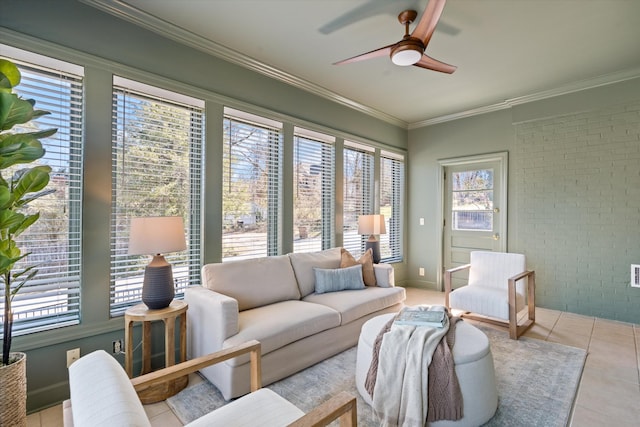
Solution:
[[(324, 305), (283, 301), (240, 312), (239, 323), (240, 332), (227, 338), (224, 347), (255, 339), (260, 341), (264, 355), (294, 341), (340, 326), (340, 314)], [(226, 363), (238, 366), (248, 361), (249, 356), (243, 355)]]

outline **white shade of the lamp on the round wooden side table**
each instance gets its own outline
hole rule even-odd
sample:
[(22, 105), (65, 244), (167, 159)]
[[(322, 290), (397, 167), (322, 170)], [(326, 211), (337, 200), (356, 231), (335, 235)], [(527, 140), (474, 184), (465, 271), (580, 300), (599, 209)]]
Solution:
[(179, 216), (131, 219), (129, 255), (152, 255), (187, 249), (184, 223)]

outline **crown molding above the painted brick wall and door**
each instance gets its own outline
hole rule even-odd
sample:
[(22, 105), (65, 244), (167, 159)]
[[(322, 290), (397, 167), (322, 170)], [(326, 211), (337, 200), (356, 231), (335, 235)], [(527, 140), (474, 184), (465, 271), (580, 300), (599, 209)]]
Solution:
[(464, 119), (467, 117), (477, 116), (480, 114), (491, 113), (494, 111), (505, 110), (517, 105), (527, 104), (529, 102), (541, 101), (543, 99), (553, 98), (555, 96), (566, 95), (573, 92), (579, 92), (581, 90), (593, 89), (600, 86), (606, 86), (614, 83), (620, 83), (626, 80), (632, 80), (640, 78), (640, 68), (632, 68), (629, 70), (619, 71), (611, 74), (605, 74), (602, 76), (584, 79), (577, 82), (572, 82), (567, 85), (557, 87), (555, 89), (536, 92), (530, 95), (520, 96), (517, 98), (510, 98), (503, 102), (496, 104), (486, 105), (483, 107), (473, 108), (470, 110), (460, 111), (453, 114), (447, 114), (431, 119), (426, 119), (420, 122), (409, 123), (407, 129), (418, 129), (425, 126), (431, 126), (438, 123), (450, 122), (453, 120)]

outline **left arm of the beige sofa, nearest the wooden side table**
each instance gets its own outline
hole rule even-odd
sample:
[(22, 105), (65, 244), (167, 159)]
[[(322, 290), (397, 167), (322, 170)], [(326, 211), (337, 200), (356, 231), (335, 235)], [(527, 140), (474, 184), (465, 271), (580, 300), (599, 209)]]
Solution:
[(238, 333), (237, 300), (202, 286), (187, 288), (184, 300), (189, 359), (221, 350), (224, 340)]

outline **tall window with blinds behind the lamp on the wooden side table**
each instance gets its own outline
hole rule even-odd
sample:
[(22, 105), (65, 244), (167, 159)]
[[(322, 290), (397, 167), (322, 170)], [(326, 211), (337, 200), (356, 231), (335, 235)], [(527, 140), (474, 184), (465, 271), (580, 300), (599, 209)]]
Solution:
[(140, 302), (150, 261), (127, 254), (131, 218), (181, 216), (187, 250), (166, 256), (176, 295), (200, 283), (204, 103), (114, 77), (112, 105), (110, 302), (116, 316)]

